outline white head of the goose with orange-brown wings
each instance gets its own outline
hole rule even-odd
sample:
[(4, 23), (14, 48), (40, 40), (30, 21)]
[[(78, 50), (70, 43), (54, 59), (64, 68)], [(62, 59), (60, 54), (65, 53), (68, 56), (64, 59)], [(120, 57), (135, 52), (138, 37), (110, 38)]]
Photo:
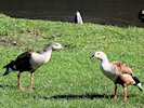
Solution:
[(107, 56), (104, 52), (97, 51), (90, 58), (97, 58), (97, 59), (104, 60), (104, 59), (107, 59)]

